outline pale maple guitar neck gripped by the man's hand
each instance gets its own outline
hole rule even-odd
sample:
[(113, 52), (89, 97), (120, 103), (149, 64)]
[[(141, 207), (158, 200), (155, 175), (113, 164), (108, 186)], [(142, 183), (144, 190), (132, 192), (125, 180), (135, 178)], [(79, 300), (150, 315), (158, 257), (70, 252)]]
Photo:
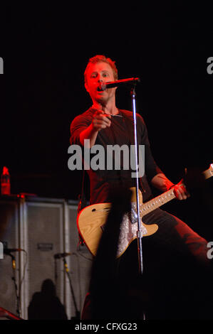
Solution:
[[(204, 178), (211, 178), (213, 176), (213, 163), (210, 165), (209, 169), (207, 171), (202, 172), (204, 175)], [(182, 184), (183, 185), (183, 184)], [(165, 193), (162, 193), (161, 195), (153, 198), (152, 200), (149, 200), (147, 203), (143, 203), (141, 205), (141, 213), (142, 216), (147, 215), (147, 213), (152, 212), (153, 210), (160, 208), (161, 205), (164, 205), (167, 202), (170, 202), (170, 200), (173, 200), (175, 198), (174, 189), (167, 190)]]

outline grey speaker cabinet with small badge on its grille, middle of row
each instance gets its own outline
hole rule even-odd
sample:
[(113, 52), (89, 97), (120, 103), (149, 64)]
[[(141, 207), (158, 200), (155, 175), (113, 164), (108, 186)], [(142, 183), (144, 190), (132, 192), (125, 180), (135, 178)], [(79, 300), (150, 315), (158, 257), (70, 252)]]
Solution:
[[(26, 201), (24, 222), (25, 247), (28, 253), (26, 289), (30, 304), (28, 316), (32, 319), (43, 318), (46, 316), (45, 313), (51, 311), (55, 314), (56, 310), (53, 309), (55, 293), (62, 305), (64, 304), (63, 266), (54, 259), (54, 254), (64, 252), (63, 207), (63, 200), (34, 198)], [(50, 301), (49, 304), (47, 299)], [(46, 308), (43, 308), (44, 304)], [(51, 317), (51, 314), (48, 317)]]

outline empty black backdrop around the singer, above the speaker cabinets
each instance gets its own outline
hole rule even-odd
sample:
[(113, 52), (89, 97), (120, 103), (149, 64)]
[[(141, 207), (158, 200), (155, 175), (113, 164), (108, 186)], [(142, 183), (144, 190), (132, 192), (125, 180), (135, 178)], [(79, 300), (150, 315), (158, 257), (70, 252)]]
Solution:
[[(90, 107), (83, 72), (96, 54), (116, 61), (120, 79), (140, 77), (137, 112), (167, 177), (176, 183), (185, 167), (209, 168), (212, 11), (208, 4), (161, 2), (2, 7), (0, 168), (9, 168), (12, 193), (78, 199), (81, 173), (67, 166), (69, 128)], [(117, 107), (131, 108), (128, 90), (118, 90)], [(212, 180), (194, 183), (189, 200), (165, 208), (212, 237)]]

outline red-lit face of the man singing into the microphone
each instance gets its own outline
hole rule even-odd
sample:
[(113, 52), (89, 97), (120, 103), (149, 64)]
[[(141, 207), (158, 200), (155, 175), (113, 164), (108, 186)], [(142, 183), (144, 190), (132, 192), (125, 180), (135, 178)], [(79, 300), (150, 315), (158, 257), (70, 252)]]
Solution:
[(88, 67), (85, 89), (90, 94), (93, 102), (107, 103), (115, 97), (116, 88), (110, 88), (103, 92), (98, 91), (101, 82), (115, 81), (113, 70), (108, 63), (90, 64)]

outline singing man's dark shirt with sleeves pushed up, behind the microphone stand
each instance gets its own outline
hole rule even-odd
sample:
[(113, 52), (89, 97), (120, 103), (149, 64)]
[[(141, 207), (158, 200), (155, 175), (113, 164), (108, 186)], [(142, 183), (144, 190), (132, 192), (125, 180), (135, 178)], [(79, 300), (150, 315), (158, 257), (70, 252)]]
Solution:
[[(83, 114), (80, 114), (73, 119), (73, 122), (71, 123), (71, 144), (80, 145), (80, 132), (91, 124), (94, 112), (95, 109), (91, 107), (86, 112), (83, 112)], [(132, 112), (119, 109), (119, 113), (111, 117), (111, 126), (98, 132), (95, 145), (98, 145), (99, 147), (101, 146), (105, 151), (105, 167), (107, 166), (108, 153), (106, 152), (108, 152), (108, 146), (115, 146), (115, 144), (120, 147), (123, 145), (128, 146), (129, 149), (130, 145), (134, 144), (134, 123)], [(142, 182), (140, 183), (140, 188), (143, 193), (143, 201), (145, 202), (152, 197), (149, 182), (155, 175), (157, 175), (157, 173), (162, 173), (162, 171), (152, 157), (145, 122), (140, 114), (137, 114), (137, 149), (139, 149), (139, 145), (145, 145), (145, 174), (142, 176)], [(90, 158), (92, 157), (93, 154), (91, 154)], [(113, 166), (115, 166), (115, 155), (112, 159)], [(107, 168), (93, 170), (93, 168), (90, 168), (87, 172), (90, 178), (90, 204), (109, 202), (109, 190), (110, 185), (112, 184), (115, 185), (117, 183), (119, 185), (119, 183), (123, 183), (123, 185), (128, 187), (135, 186), (135, 178), (132, 177), (133, 171), (131, 168), (128, 170), (123, 168), (122, 159), (119, 170), (116, 170), (115, 168), (110, 170)]]

